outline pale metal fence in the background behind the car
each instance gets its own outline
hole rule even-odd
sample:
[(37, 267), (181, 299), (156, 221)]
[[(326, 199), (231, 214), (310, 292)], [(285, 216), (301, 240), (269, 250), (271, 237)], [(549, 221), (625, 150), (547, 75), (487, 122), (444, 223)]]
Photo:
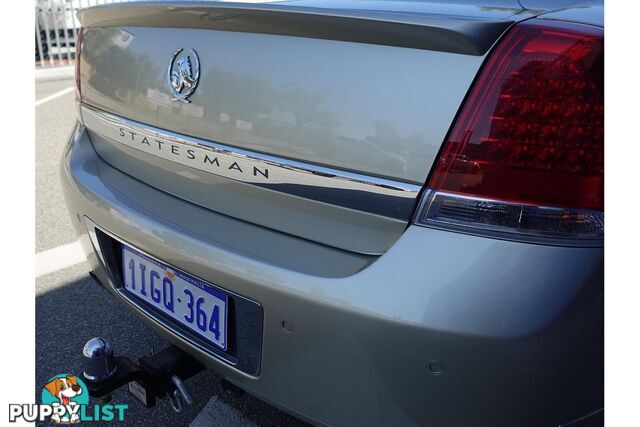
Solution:
[(72, 64), (80, 22), (78, 9), (131, 0), (36, 0), (36, 66)]

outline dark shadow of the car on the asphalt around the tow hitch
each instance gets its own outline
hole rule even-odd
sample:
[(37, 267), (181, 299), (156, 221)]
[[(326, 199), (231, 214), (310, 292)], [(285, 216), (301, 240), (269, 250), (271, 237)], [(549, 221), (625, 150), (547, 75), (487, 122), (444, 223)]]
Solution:
[[(44, 384), (61, 373), (80, 375), (82, 347), (91, 337), (108, 338), (116, 355), (137, 361), (139, 356), (164, 348), (167, 342), (149, 329), (133, 313), (88, 275), (76, 277), (36, 297), (36, 401)], [(118, 425), (182, 426), (188, 425), (214, 395), (221, 404), (238, 412), (236, 425), (306, 425), (272, 406), (244, 393), (242, 396), (221, 390), (221, 378), (206, 370), (186, 381), (193, 394), (194, 404), (182, 413), (175, 413), (168, 399), (160, 400), (155, 408), (147, 409), (125, 388), (113, 394), (110, 403), (127, 404), (124, 423)], [(90, 405), (99, 403), (91, 399)], [(226, 422), (230, 420), (226, 419)], [(83, 426), (105, 425), (83, 422)], [(46, 422), (40, 425), (51, 425)]]

